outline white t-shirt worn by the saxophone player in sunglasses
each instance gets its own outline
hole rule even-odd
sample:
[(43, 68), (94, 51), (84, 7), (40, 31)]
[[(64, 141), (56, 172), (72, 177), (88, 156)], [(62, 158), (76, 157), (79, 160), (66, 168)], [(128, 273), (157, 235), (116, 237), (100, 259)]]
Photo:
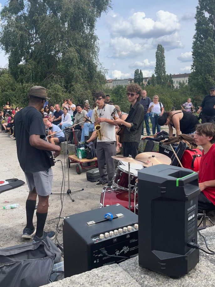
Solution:
[[(113, 120), (113, 118), (111, 117), (111, 114), (113, 113), (113, 110), (115, 109), (115, 107), (113, 105), (105, 105), (105, 107), (103, 109), (97, 109), (97, 114), (98, 117), (101, 118), (106, 118), (108, 120)], [(118, 117), (118, 114), (115, 114), (116, 117)], [(93, 109), (92, 111), (92, 119), (93, 122), (95, 122), (95, 109)], [(97, 138), (98, 142), (101, 141), (116, 141), (116, 134), (115, 134), (115, 125), (110, 125), (106, 122), (102, 122), (100, 123), (101, 125), (101, 132), (102, 132), (102, 139), (99, 140)]]

